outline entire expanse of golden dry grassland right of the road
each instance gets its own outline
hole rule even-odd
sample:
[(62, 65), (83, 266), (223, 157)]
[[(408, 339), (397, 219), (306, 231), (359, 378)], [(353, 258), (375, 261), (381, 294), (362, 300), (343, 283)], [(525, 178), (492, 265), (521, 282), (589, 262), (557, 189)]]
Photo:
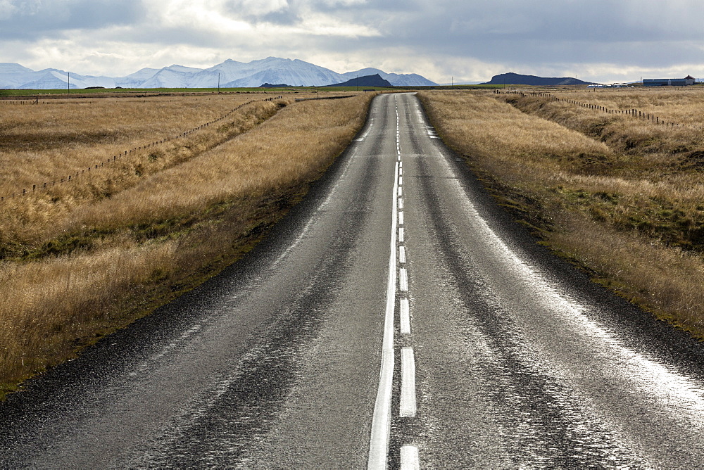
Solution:
[[(697, 90), (422, 93), (439, 134), (543, 243), (704, 338), (704, 125)], [(691, 127), (690, 127), (691, 126)]]

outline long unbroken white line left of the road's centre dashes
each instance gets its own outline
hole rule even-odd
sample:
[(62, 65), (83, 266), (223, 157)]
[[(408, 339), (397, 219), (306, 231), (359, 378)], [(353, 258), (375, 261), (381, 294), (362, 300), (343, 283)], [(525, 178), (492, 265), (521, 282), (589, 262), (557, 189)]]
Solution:
[[(398, 172), (396, 163), (395, 172)], [(372, 416), (372, 431), (369, 440), (367, 469), (385, 469), (391, 433), (391, 391), (394, 381), (394, 307), (396, 304), (396, 186), (391, 193), (391, 253), (389, 254), (389, 277), (386, 280), (386, 310), (384, 312), (384, 339), (382, 341), (382, 363), (379, 370), (379, 388)]]

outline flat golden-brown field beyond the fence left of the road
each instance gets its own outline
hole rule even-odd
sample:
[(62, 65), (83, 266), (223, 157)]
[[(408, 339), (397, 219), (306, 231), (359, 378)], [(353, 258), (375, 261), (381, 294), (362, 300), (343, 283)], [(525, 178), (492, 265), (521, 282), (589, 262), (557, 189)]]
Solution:
[(0, 101), (0, 194), (68, 177), (155, 139), (175, 137), (251, 99), (169, 96), (30, 106)]

